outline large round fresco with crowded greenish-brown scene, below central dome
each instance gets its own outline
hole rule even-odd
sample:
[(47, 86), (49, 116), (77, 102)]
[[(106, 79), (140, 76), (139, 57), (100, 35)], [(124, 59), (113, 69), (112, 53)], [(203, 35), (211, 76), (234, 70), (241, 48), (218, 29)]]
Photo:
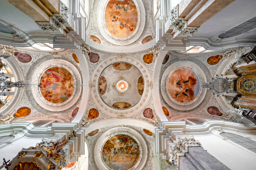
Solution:
[(140, 148), (131, 136), (115, 135), (104, 144), (102, 157), (112, 170), (129, 170), (138, 162)]

